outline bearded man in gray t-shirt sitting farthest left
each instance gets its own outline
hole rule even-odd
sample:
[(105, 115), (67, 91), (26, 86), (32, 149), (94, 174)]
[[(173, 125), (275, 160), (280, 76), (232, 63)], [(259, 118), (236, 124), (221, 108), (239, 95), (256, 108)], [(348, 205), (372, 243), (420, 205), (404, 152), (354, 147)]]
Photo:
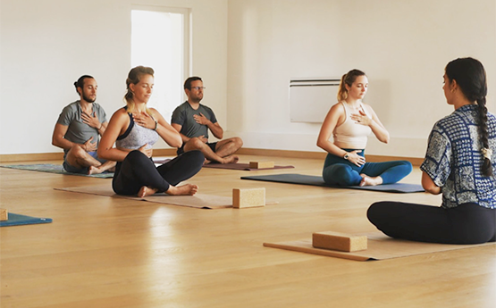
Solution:
[(63, 169), (72, 173), (97, 174), (115, 166), (99, 159), (99, 136), (108, 122), (104, 109), (97, 103), (97, 80), (83, 75), (74, 82), (80, 100), (63, 108), (55, 124), (52, 145), (63, 148)]

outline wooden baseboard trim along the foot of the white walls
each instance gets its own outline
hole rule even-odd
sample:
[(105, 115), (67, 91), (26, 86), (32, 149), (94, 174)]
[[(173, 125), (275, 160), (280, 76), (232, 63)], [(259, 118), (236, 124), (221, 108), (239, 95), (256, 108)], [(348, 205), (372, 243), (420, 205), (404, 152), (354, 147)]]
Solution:
[[(290, 150), (270, 150), (256, 148), (240, 148), (237, 154), (260, 155), (260, 156), (280, 156), (292, 158), (325, 159), (325, 152), (290, 151)], [(175, 156), (175, 148), (156, 149), (154, 156)], [(383, 155), (366, 155), (367, 162), (388, 162), (388, 161), (408, 161), (414, 166), (420, 166), (424, 161), (418, 157), (400, 157)], [(63, 153), (37, 153), (37, 154), (0, 154), (0, 162), (34, 162), (34, 161), (62, 161)]]

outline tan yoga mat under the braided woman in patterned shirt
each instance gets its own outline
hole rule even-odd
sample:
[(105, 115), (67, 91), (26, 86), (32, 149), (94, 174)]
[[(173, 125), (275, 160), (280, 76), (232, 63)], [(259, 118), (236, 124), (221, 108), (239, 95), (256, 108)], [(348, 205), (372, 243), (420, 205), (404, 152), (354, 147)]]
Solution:
[(495, 243), (484, 243), (478, 245), (449, 245), (413, 242), (404, 239), (391, 238), (382, 232), (374, 232), (366, 235), (368, 237), (367, 249), (357, 252), (340, 252), (330, 249), (314, 248), (312, 238), (286, 241), (279, 243), (264, 243), (265, 247), (280, 248), (284, 250), (297, 251), (307, 254), (319, 254), (337, 258), (367, 261), (367, 260), (385, 260), (399, 257), (406, 257), (416, 254), (433, 254), (456, 249), (471, 248), (477, 246), (494, 245)]

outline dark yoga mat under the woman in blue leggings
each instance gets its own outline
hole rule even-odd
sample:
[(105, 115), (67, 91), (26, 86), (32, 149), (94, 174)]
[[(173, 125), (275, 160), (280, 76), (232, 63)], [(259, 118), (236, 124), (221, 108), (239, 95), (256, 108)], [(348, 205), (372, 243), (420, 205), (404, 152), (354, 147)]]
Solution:
[(331, 186), (324, 182), (322, 177), (313, 175), (304, 175), (296, 173), (286, 173), (286, 174), (270, 174), (270, 175), (254, 175), (248, 177), (241, 177), (241, 179), (253, 179), (262, 180), (267, 182), (277, 182), (286, 184), (301, 184), (301, 185), (311, 185), (311, 186), (321, 186), (321, 187), (334, 187), (334, 188), (349, 188), (349, 189), (362, 189), (362, 190), (374, 190), (382, 191), (385, 193), (418, 193), (425, 191), (424, 188), (417, 184), (405, 184), (405, 183), (395, 183), (395, 184), (384, 184), (377, 186)]

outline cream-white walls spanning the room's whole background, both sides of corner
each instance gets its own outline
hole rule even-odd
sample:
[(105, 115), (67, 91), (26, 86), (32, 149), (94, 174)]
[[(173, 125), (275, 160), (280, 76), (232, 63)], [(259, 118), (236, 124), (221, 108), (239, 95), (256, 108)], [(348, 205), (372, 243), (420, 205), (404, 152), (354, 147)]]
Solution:
[(441, 77), (459, 56), (483, 62), (496, 112), (494, 0), (0, 0), (0, 154), (61, 151), (52, 131), (82, 74), (109, 116), (123, 105), (131, 4), (191, 9), (191, 72), (225, 135), (247, 147), (320, 151), (318, 124), (290, 122), (289, 80), (353, 68), (391, 133), (387, 146), (369, 138), (367, 154), (425, 154), (452, 111)]

